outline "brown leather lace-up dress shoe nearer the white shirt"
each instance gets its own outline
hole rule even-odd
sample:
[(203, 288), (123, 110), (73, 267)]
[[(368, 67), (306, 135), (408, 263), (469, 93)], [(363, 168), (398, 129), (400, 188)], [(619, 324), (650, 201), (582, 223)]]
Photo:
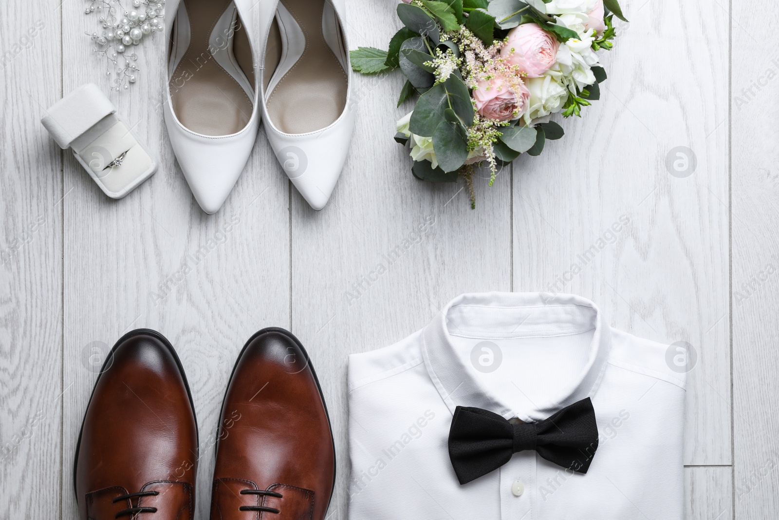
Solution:
[(235, 363), (222, 404), (212, 520), (322, 520), (335, 447), (319, 380), (290, 332), (266, 328)]

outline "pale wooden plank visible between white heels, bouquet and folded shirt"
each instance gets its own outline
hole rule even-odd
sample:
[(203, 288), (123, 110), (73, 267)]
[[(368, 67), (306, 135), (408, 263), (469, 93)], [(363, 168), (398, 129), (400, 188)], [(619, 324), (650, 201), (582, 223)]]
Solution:
[[(347, 2), (350, 48), (386, 48), (400, 28), (393, 2)], [(312, 211), (292, 195), (292, 327), (311, 354), (330, 409), (337, 487), (328, 518), (347, 518), (347, 355), (424, 327), (462, 292), (510, 290), (510, 179), (478, 179), (477, 209), (464, 183), (414, 179), (393, 141), (399, 72), (354, 76), (357, 128), (330, 203)], [(393, 253), (394, 252), (394, 253)]]

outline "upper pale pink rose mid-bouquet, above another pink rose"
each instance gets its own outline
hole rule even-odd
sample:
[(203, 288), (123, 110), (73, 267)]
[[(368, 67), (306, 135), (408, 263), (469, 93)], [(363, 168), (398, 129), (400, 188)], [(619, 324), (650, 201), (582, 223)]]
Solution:
[(519, 65), (520, 72), (529, 78), (538, 78), (555, 64), (559, 42), (538, 23), (523, 23), (509, 31), (509, 42), (500, 55), (511, 65)]

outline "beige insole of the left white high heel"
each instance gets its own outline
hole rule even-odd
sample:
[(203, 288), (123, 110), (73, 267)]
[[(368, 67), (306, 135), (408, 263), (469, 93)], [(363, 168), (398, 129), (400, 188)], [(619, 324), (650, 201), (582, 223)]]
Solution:
[[(209, 38), (231, 0), (184, 0), (192, 37), (189, 48), (171, 75), (171, 101), (178, 120), (192, 132), (227, 136), (240, 132), (252, 117), (253, 102), (238, 81), (214, 59)], [(252, 50), (238, 18), (233, 51), (238, 65), (254, 83)], [(227, 41), (220, 35), (220, 41)]]

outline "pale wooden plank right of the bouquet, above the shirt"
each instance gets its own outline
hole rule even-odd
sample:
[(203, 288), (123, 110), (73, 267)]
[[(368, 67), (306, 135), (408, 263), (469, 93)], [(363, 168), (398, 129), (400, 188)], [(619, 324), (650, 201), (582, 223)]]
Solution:
[[(620, 330), (692, 344), (685, 462), (730, 464), (728, 12), (657, 0), (626, 16), (601, 101), (515, 162), (514, 289), (584, 295)], [(665, 164), (682, 146), (686, 178)]]

